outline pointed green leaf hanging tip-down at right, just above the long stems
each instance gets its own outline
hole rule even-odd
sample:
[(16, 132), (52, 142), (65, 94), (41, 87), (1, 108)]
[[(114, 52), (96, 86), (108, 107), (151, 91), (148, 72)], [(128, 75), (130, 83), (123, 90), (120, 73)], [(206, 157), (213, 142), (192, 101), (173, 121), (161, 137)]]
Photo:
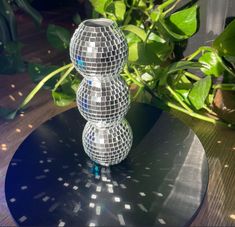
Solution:
[(200, 110), (208, 97), (211, 88), (211, 77), (207, 76), (193, 84), (189, 92), (188, 98), (192, 105)]

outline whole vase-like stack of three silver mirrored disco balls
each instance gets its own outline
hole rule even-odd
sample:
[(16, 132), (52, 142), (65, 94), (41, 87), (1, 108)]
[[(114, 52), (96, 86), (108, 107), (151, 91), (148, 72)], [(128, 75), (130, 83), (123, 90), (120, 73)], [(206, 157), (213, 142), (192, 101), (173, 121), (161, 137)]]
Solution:
[(132, 145), (132, 130), (124, 119), (130, 94), (119, 75), (127, 55), (123, 33), (104, 18), (82, 22), (70, 42), (71, 61), (84, 77), (77, 91), (78, 109), (88, 121), (82, 136), (84, 150), (104, 166), (121, 162)]

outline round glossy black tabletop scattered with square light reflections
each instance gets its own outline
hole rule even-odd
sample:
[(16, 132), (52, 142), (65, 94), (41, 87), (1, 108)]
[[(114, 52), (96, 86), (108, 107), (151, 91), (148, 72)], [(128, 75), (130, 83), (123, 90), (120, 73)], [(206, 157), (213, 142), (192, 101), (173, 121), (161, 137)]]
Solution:
[(134, 144), (122, 163), (93, 163), (81, 143), (85, 120), (64, 112), (31, 133), (5, 184), (20, 226), (187, 226), (206, 193), (208, 165), (192, 130), (160, 110), (134, 104)]

